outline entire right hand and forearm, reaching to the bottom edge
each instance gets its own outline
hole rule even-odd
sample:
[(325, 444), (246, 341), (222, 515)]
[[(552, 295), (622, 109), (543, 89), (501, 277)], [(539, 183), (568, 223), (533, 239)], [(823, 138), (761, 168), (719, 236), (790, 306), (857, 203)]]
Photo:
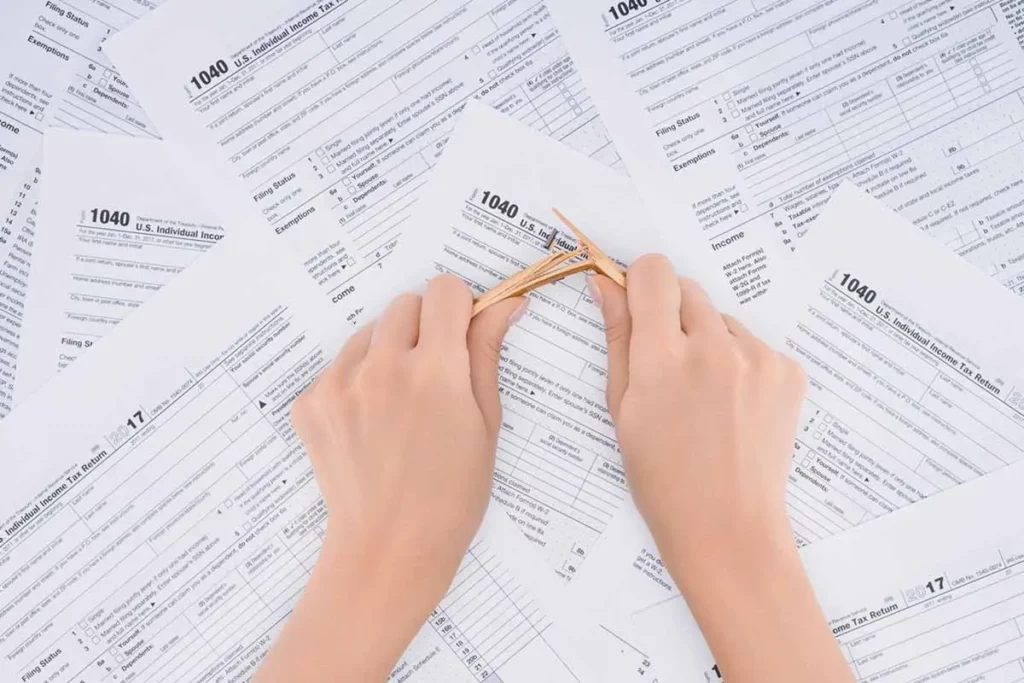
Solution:
[(806, 380), (660, 256), (591, 280), (608, 405), (662, 558), (729, 683), (852, 681), (786, 517)]

